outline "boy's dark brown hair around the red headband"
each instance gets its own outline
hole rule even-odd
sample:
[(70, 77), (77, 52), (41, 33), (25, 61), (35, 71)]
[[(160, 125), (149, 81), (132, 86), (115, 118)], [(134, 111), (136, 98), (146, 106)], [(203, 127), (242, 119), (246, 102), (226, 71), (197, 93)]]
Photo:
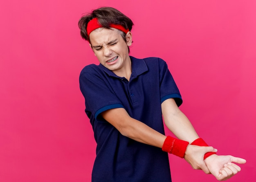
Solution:
[[(133, 22), (126, 15), (112, 7), (101, 7), (99, 9), (93, 10), (91, 13), (82, 16), (78, 22), (80, 34), (82, 38), (88, 42), (90, 42), (90, 39), (86, 29), (88, 22), (90, 22), (90, 20), (93, 18), (98, 18), (99, 24), (101, 24), (101, 26), (106, 29), (110, 29), (110, 24), (117, 24), (124, 26), (124, 28), (129, 29), (129, 31), (132, 30)], [(126, 42), (126, 34), (122, 32), (121, 35)]]

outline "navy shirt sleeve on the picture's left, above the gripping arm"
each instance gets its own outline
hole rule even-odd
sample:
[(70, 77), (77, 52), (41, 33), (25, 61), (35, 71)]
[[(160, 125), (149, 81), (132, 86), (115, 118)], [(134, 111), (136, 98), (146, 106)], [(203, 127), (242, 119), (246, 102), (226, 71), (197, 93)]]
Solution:
[(103, 111), (119, 107), (124, 108), (101, 75), (81, 72), (79, 83), (80, 90), (85, 97), (85, 112), (92, 114), (95, 119)]

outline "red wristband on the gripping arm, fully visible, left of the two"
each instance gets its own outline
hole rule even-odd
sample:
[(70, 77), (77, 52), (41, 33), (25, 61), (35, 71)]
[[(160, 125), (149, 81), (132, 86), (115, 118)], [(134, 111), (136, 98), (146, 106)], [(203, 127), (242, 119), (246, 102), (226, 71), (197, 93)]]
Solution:
[(167, 136), (164, 140), (164, 145), (162, 147), (163, 151), (172, 153), (175, 156), (184, 158), (186, 147), (189, 145), (189, 142), (184, 140), (179, 140), (171, 136)]

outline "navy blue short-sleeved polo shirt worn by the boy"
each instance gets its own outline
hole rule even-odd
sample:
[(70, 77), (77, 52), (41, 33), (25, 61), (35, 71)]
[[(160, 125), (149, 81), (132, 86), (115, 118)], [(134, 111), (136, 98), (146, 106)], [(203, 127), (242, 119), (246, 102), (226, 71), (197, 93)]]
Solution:
[(92, 182), (171, 182), (168, 153), (139, 143), (121, 133), (101, 117), (101, 112), (124, 108), (128, 114), (164, 134), (161, 103), (180, 92), (164, 60), (156, 57), (132, 61), (130, 81), (103, 65), (88, 65), (80, 74), (85, 112), (97, 142)]

